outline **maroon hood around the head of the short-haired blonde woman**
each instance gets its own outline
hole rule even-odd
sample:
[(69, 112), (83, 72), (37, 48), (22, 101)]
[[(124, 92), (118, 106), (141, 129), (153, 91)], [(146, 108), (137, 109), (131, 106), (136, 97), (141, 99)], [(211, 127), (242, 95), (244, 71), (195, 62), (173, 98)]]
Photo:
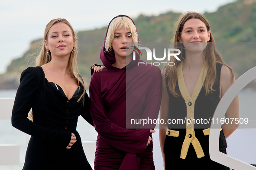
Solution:
[[(116, 19), (117, 17), (120, 17), (120, 16), (127, 17), (133, 22), (133, 20), (129, 16), (125, 16), (125, 15), (115, 16), (113, 19)], [(113, 21), (113, 19), (110, 21), (110, 23)], [(108, 32), (108, 28), (109, 28), (110, 23), (107, 26), (107, 32)], [(133, 24), (134, 24), (134, 22), (133, 22)], [(107, 32), (106, 32), (106, 35), (105, 35), (105, 38), (104, 38), (104, 41), (103, 41), (103, 44), (102, 44), (102, 47), (101, 47), (100, 60), (102, 61), (103, 65), (107, 69), (119, 69), (119, 68), (116, 68), (116, 67), (112, 66), (112, 64), (116, 62), (114, 51), (110, 50), (110, 52), (107, 52), (106, 48), (105, 48), (105, 39), (106, 39), (106, 36), (107, 36)], [(136, 32), (137, 32), (137, 29), (136, 29)], [(138, 36), (138, 42), (139, 42), (139, 36)], [(136, 47), (134, 47), (134, 48), (137, 49)], [(138, 63), (138, 61), (139, 61), (139, 55), (136, 53), (136, 60), (132, 60), (131, 63), (126, 65), (123, 69), (126, 69), (126, 68), (129, 68), (131, 66), (136, 65), (136, 63)]]

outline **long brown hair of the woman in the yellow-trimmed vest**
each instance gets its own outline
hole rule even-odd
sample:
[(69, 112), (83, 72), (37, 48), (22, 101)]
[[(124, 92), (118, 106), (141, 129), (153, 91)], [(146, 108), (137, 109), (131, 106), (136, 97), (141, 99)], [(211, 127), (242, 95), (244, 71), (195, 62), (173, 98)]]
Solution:
[[(178, 56), (181, 59), (181, 61), (185, 60), (186, 53), (185, 53), (184, 45), (179, 43), (179, 40), (181, 38), (181, 32), (183, 30), (183, 26), (185, 22), (187, 22), (189, 19), (200, 19), (202, 22), (204, 22), (207, 28), (207, 31), (211, 30), (208, 20), (205, 18), (205, 16), (203, 16), (200, 13), (186, 12), (179, 17), (175, 25), (176, 31), (174, 32), (174, 38), (172, 39), (172, 48), (181, 50), (181, 54)], [(222, 63), (225, 66), (227, 66), (227, 64), (224, 63), (224, 61), (222, 60), (221, 54), (217, 51), (215, 47), (214, 37), (212, 36), (211, 32), (210, 32), (210, 36), (211, 36), (210, 40), (208, 41), (210, 43), (207, 43), (207, 46), (204, 49), (204, 61), (206, 62), (206, 65), (208, 67), (207, 76), (204, 81), (204, 88), (206, 91), (206, 95), (216, 90), (216, 89), (213, 89), (213, 85), (216, 80), (216, 63)], [(166, 78), (169, 77), (169, 81), (168, 81), (169, 90), (175, 97), (178, 97), (178, 94), (175, 91), (175, 86), (178, 78), (177, 67), (181, 63), (181, 61), (178, 61), (174, 57), (172, 57), (170, 59), (170, 62), (175, 63), (175, 65), (164, 67), (166, 72)], [(231, 70), (232, 77), (234, 77), (233, 69), (230, 66), (227, 66), (227, 67)]]

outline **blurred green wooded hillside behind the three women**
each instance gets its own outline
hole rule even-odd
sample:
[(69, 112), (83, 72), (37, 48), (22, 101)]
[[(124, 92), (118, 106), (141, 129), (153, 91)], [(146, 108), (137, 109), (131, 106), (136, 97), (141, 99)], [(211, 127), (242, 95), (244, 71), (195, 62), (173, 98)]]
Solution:
[[(168, 12), (159, 16), (138, 16), (134, 22), (140, 44), (143, 46), (143, 42), (170, 42), (174, 24), (180, 15), (181, 13)], [(220, 6), (214, 13), (204, 13), (204, 16), (211, 24), (211, 31), (224, 61), (234, 69), (237, 76), (256, 66), (256, 0), (238, 0)], [(107, 27), (78, 32), (78, 67), (85, 82), (90, 82), (91, 65), (101, 63), (100, 48), (106, 30)], [(33, 41), (21, 58), (13, 60), (6, 74), (19, 75), (27, 66), (34, 66), (40, 41), (42, 40)]]

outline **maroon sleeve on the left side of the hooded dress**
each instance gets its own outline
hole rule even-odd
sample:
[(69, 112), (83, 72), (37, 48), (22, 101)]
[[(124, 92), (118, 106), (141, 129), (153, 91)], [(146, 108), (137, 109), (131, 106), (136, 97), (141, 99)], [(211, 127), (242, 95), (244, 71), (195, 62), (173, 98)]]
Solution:
[(101, 98), (100, 74), (94, 74), (90, 83), (91, 117), (95, 130), (114, 148), (129, 153), (143, 153), (149, 139), (149, 129), (125, 129), (108, 119)]

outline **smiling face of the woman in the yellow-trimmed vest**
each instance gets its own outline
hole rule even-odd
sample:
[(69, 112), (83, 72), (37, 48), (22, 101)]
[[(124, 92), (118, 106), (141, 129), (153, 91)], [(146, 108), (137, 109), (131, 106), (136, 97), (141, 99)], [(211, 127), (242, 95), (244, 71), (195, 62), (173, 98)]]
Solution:
[(210, 40), (210, 33), (200, 19), (189, 19), (183, 26), (179, 41), (184, 44), (186, 50), (199, 52), (205, 49), (207, 41)]

